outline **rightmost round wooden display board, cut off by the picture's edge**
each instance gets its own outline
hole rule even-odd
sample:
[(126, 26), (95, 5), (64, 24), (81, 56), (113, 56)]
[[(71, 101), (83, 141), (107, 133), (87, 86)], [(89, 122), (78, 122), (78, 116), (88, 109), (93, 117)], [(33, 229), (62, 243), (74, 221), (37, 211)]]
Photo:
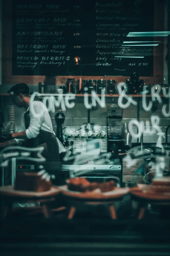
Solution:
[(146, 200), (170, 200), (170, 193), (155, 193), (152, 190), (152, 185), (138, 184), (138, 186), (130, 188), (129, 192), (136, 197)]

